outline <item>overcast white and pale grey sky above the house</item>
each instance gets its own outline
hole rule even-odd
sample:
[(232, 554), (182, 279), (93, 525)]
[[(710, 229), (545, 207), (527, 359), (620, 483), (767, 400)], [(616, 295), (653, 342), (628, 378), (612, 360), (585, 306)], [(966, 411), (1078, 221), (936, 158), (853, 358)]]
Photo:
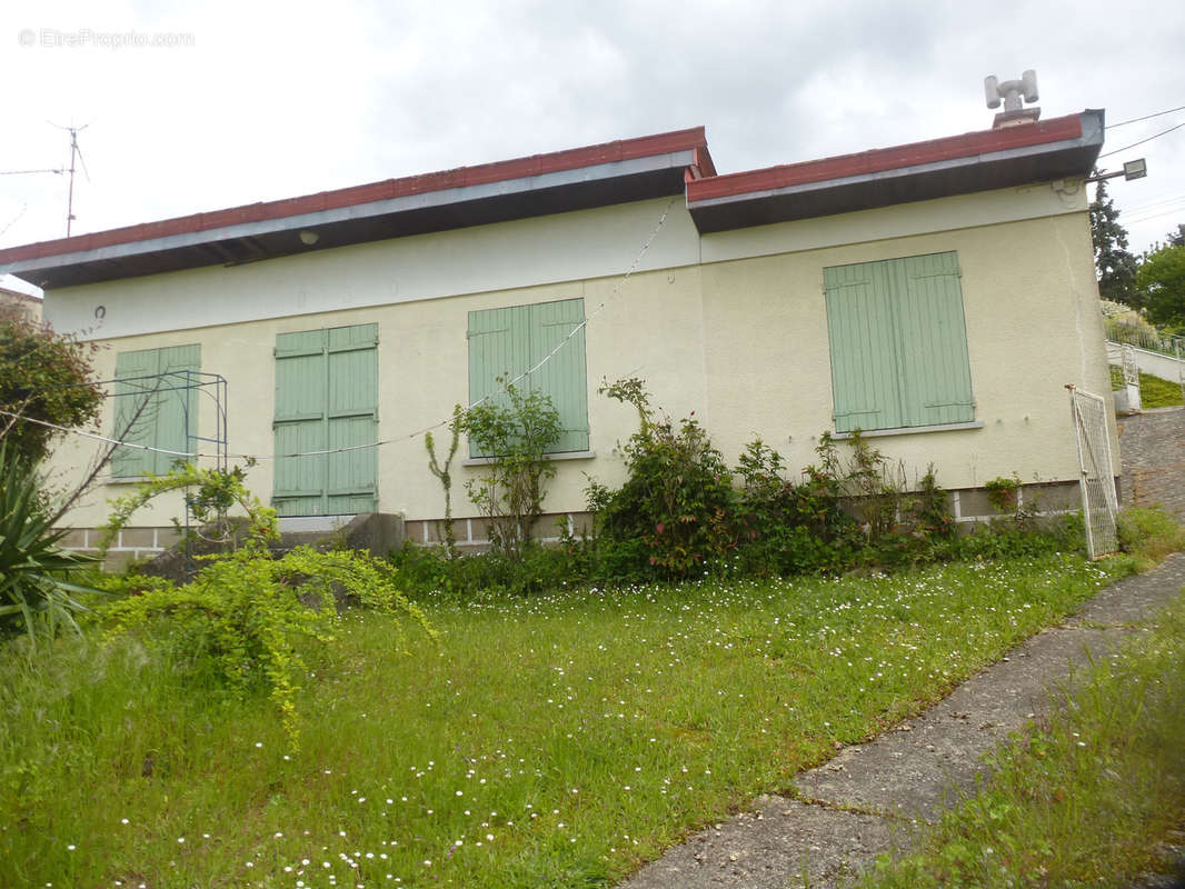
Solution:
[[(735, 172), (986, 129), (984, 77), (1029, 68), (1045, 117), (1185, 105), (1185, 8), (8, 0), (0, 171), (69, 166), (85, 124), (75, 234), (697, 124)], [(1185, 223), (1185, 127), (1101, 162), (1139, 156), (1110, 185), (1136, 251)], [(0, 177), (0, 247), (65, 235), (66, 186)]]

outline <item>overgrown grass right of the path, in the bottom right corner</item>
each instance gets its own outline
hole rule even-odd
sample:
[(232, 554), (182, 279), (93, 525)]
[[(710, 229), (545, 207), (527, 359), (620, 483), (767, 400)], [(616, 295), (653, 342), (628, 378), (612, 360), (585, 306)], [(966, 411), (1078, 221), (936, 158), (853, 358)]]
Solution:
[(1074, 705), (1001, 748), (921, 851), (859, 885), (1127, 887), (1162, 864), (1154, 845), (1185, 819), (1185, 595), (1074, 684)]

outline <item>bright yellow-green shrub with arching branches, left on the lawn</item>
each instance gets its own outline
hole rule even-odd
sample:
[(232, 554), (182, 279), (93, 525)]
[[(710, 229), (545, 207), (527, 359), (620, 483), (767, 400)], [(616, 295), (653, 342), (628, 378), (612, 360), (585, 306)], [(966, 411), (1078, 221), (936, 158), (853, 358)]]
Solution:
[[(358, 605), (411, 618), (430, 635), (421, 610), (396, 584), (391, 565), (364, 552), (319, 552), (297, 546), (277, 555), (275, 510), (246, 487), (245, 472), (179, 463), (167, 475), (152, 477), (115, 501), (107, 523), (114, 535), (133, 513), (155, 497), (184, 490), (199, 520), (217, 530), (226, 552), (199, 556), (200, 568), (184, 584), (127, 574), (107, 581), (111, 593), (127, 594), (102, 609), (108, 634), (137, 633), (148, 645), (168, 651), (196, 672), (207, 673), (232, 691), (261, 685), (280, 709), (284, 730), (297, 741), (296, 692), (306, 674), (300, 646), (329, 642), (339, 606)], [(232, 520), (238, 506), (245, 520)], [(392, 621), (402, 640), (398, 620)]]

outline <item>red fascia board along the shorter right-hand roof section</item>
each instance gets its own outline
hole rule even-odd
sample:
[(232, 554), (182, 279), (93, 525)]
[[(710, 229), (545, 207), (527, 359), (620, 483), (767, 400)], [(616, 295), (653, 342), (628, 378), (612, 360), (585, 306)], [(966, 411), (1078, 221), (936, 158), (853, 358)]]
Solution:
[(801, 164), (787, 164), (744, 173), (729, 173), (687, 183), (687, 203), (725, 198), (750, 192), (786, 188), (794, 185), (845, 179), (924, 164), (939, 164), (959, 158), (1005, 152), (1082, 136), (1081, 115), (1053, 117), (1038, 123), (965, 133), (927, 142), (892, 148), (876, 148), (857, 154), (841, 154)]

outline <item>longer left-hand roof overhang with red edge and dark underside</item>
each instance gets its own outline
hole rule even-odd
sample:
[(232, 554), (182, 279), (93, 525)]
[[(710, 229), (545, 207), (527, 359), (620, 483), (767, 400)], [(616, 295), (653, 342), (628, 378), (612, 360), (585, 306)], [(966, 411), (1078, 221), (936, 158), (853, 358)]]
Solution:
[(674, 196), (715, 172), (697, 127), (9, 248), (0, 273), (52, 289), (232, 266)]

